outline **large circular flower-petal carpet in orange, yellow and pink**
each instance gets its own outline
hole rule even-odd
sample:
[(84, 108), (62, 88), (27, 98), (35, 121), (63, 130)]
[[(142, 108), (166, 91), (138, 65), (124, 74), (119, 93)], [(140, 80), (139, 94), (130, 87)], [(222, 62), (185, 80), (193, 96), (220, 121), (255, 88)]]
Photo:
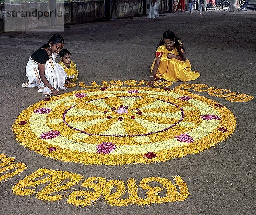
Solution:
[[(87, 96), (77, 97), (78, 93)], [(57, 160), (107, 165), (159, 162), (199, 153), (233, 133), (235, 116), (216, 103), (183, 90), (80, 90), (23, 110), (13, 131), (22, 145)], [(20, 126), (21, 121), (29, 123)], [(53, 146), (58, 153), (49, 154)]]

